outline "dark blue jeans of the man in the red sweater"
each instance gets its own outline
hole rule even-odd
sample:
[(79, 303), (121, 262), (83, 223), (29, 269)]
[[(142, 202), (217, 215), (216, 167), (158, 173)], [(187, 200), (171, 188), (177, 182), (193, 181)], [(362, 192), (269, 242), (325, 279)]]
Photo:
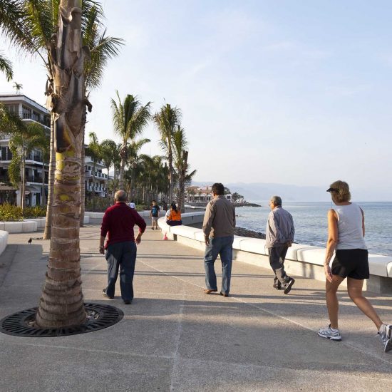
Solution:
[(120, 270), (120, 289), (121, 298), (124, 301), (133, 299), (133, 274), (136, 262), (135, 242), (118, 242), (111, 244), (106, 249), (106, 261), (108, 262), (108, 287), (106, 294), (114, 296), (115, 282)]

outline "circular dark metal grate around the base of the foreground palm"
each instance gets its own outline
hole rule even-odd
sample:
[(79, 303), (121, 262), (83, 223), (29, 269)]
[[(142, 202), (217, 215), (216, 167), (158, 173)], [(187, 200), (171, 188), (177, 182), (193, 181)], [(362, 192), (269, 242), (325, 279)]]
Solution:
[(26, 309), (4, 317), (0, 321), (0, 331), (8, 335), (31, 338), (86, 334), (108, 328), (108, 326), (118, 323), (124, 316), (123, 311), (114, 306), (84, 304), (87, 314), (87, 321), (84, 324), (66, 328), (38, 328), (34, 326), (37, 309)]

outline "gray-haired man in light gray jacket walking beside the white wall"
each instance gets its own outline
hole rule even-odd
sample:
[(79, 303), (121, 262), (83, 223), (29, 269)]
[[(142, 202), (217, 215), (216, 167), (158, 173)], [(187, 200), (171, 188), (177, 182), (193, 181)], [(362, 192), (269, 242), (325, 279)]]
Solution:
[(295, 280), (288, 277), (284, 271), (284, 258), (287, 249), (294, 241), (294, 222), (292, 215), (282, 208), (282, 199), (279, 196), (272, 196), (269, 202), (271, 212), (269, 212), (266, 229), (266, 247), (269, 252), (269, 264), (274, 270), (274, 288), (280, 290), (284, 288), (284, 294), (288, 294), (292, 289)]

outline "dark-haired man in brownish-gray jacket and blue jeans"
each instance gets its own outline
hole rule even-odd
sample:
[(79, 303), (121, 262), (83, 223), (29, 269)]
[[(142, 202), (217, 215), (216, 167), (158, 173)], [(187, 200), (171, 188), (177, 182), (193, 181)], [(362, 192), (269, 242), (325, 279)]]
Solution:
[(225, 187), (212, 185), (213, 199), (207, 204), (203, 221), (205, 236), (205, 294), (217, 292), (217, 276), (214, 263), (220, 255), (222, 262), (222, 296), (229, 296), (232, 276), (232, 252), (235, 227), (235, 208), (224, 196)]

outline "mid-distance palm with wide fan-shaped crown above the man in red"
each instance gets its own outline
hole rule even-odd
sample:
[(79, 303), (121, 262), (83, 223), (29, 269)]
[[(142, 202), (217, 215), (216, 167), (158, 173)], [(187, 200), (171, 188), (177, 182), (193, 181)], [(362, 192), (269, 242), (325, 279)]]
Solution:
[(142, 105), (138, 97), (128, 94), (124, 101), (121, 102), (118, 91), (116, 91), (118, 102), (112, 98), (111, 105), (113, 110), (113, 126), (115, 133), (122, 140), (120, 150), (120, 189), (124, 186), (124, 170), (128, 160), (129, 143), (135, 140), (137, 135), (143, 132), (143, 128), (148, 124), (151, 118), (150, 102)]

